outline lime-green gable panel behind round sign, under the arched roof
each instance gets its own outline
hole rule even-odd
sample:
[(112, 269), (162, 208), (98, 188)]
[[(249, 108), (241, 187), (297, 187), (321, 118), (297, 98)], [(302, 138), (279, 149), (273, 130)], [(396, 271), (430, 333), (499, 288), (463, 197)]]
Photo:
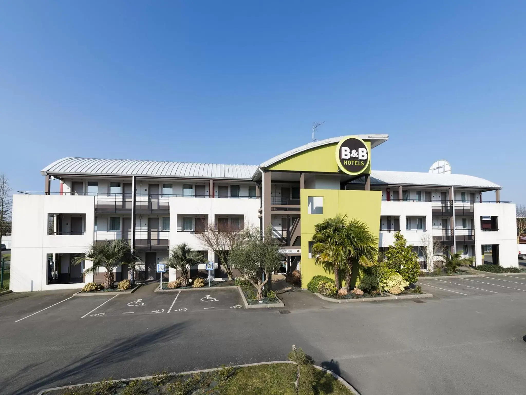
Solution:
[[(365, 143), (369, 147), (369, 151), (371, 151), (371, 142), (365, 141)], [(333, 143), (300, 152), (287, 157), (281, 162), (268, 166), (267, 170), (343, 174), (335, 161), (337, 145), (338, 143)], [(362, 174), (370, 173), (371, 161), (369, 161), (369, 166)]]

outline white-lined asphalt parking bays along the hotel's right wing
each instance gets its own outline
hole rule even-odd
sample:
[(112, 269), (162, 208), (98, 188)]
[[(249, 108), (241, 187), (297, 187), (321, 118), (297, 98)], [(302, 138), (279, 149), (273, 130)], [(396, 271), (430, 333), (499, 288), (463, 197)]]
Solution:
[(443, 276), (418, 280), (422, 290), (440, 298), (465, 298), (482, 295), (514, 294), (526, 292), (526, 276), (510, 273), (461, 278)]

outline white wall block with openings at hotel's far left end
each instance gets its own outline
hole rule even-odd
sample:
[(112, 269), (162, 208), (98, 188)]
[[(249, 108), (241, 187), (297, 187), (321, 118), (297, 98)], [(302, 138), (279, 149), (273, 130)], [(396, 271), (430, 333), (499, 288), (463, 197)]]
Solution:
[[(85, 214), (82, 235), (48, 235), (48, 213)], [(82, 288), (84, 283), (47, 285), (47, 254), (82, 253), (93, 243), (93, 196), (14, 195), (11, 246), (13, 291)], [(86, 267), (89, 266), (86, 261)], [(86, 282), (92, 281), (86, 275)]]

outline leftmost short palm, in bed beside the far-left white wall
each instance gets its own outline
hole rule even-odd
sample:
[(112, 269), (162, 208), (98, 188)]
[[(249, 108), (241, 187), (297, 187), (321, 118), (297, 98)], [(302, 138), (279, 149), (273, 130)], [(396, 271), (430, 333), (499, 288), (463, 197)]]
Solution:
[(106, 240), (103, 243), (94, 243), (89, 246), (85, 255), (77, 256), (72, 262), (73, 265), (80, 264), (82, 261), (92, 261), (93, 265), (86, 270), (85, 274), (96, 273), (99, 268), (106, 269), (104, 274), (104, 288), (113, 288), (113, 271), (122, 264), (129, 264), (130, 245), (127, 240)]

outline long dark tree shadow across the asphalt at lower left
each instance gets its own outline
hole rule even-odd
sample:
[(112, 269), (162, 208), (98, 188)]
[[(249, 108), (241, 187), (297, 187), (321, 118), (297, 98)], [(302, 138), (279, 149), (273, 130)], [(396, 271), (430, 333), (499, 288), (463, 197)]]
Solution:
[[(43, 362), (28, 365), (14, 374), (11, 378), (2, 380), (0, 382), (0, 388), (16, 388), (17, 383), (19, 382), (28, 383), (23, 384), (22, 387), (11, 392), (12, 395), (23, 395), (36, 393), (38, 390), (44, 388), (73, 384), (73, 382), (69, 381), (73, 378), (75, 378), (75, 383), (77, 383), (77, 380), (82, 380), (82, 382), (96, 381), (93, 378), (92, 369), (96, 368), (97, 370), (104, 370), (125, 358), (135, 358), (142, 354), (151, 352), (152, 349), (159, 347), (159, 343), (173, 340), (174, 337), (183, 330), (183, 327), (184, 324), (176, 323), (163, 329), (131, 335), (130, 337), (117, 342), (112, 341), (105, 345), (101, 345), (82, 358), (78, 358), (67, 367), (50, 372), (37, 380), (31, 377), (31, 372), (33, 368), (41, 365)], [(49, 363), (51, 366), (56, 364), (56, 361), (53, 360), (53, 356), (49, 357), (50, 358), (46, 363)], [(4, 394), (5, 392), (2, 393)]]

